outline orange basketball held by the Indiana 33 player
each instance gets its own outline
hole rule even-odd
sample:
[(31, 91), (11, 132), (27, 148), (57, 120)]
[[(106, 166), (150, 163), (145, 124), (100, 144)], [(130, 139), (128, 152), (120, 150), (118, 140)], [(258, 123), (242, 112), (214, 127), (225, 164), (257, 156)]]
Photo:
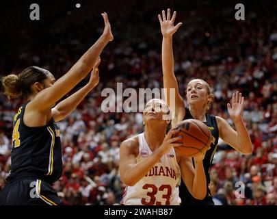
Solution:
[(181, 140), (176, 141), (183, 145), (174, 147), (176, 153), (179, 155), (194, 157), (197, 153), (205, 149), (206, 146), (211, 144), (211, 131), (209, 127), (200, 120), (183, 120), (177, 127), (180, 131), (176, 133), (174, 137), (183, 137)]

